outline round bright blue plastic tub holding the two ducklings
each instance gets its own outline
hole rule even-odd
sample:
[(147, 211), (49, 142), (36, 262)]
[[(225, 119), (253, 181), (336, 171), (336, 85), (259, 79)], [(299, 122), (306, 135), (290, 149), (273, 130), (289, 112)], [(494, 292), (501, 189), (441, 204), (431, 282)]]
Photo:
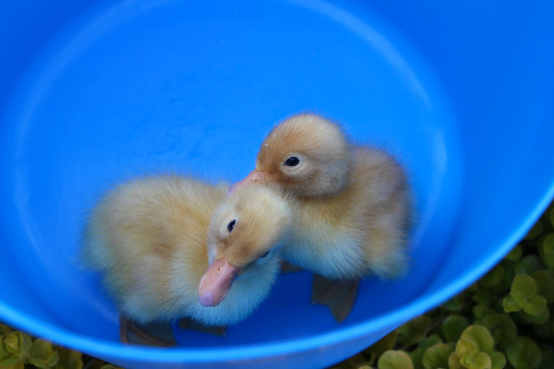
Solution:
[[(0, 4), (0, 320), (127, 368), (319, 368), (454, 296), (554, 195), (550, 1), (64, 1)], [(279, 278), (226, 339), (118, 343), (75, 253), (111, 183), (237, 180), (281, 118), (314, 109), (409, 168), (409, 276), (364, 280), (351, 316)]]

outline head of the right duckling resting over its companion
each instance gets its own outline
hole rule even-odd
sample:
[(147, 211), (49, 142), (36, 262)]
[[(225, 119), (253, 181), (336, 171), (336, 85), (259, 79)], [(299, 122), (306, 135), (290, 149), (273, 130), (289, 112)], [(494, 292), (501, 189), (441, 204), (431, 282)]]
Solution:
[(351, 152), (335, 123), (316, 114), (292, 116), (269, 133), (256, 169), (230, 192), (249, 183), (276, 183), (301, 197), (334, 195), (346, 186)]

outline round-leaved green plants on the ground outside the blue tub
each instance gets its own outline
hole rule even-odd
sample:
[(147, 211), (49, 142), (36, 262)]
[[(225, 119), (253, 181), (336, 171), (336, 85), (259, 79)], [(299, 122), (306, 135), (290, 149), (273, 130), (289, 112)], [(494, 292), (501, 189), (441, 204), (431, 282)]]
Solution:
[[(554, 368), (554, 204), (506, 258), (341, 369)], [(116, 369), (0, 324), (0, 368)]]

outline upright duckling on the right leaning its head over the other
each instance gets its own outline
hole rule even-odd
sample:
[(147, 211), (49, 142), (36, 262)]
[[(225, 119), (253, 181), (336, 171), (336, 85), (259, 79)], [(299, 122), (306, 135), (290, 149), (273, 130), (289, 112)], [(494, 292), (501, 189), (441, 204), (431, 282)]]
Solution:
[(337, 321), (350, 313), (360, 278), (397, 278), (407, 268), (411, 190), (402, 166), (375, 147), (355, 145), (336, 123), (292, 116), (262, 142), (251, 183), (277, 184), (298, 201), (283, 258), (313, 273), (312, 302)]

